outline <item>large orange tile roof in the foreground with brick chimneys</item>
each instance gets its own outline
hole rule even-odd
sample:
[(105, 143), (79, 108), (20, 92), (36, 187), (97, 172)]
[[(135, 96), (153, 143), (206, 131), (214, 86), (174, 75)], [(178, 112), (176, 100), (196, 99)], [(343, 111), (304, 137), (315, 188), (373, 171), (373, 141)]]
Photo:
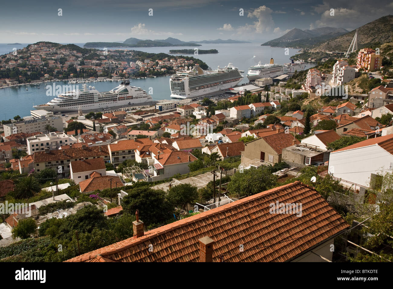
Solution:
[[(271, 204), (302, 204), (296, 214), (272, 214)], [(274, 211), (275, 212), (275, 211)], [(140, 215), (143, 221), (143, 215)], [(107, 258), (123, 262), (200, 261), (198, 239), (214, 241), (213, 261), (283, 262), (298, 258), (350, 226), (314, 188), (294, 182), (145, 232), (139, 238), (77, 256), (68, 262)], [(154, 252), (146, 248), (153, 244)], [(239, 244), (244, 251), (239, 252)]]

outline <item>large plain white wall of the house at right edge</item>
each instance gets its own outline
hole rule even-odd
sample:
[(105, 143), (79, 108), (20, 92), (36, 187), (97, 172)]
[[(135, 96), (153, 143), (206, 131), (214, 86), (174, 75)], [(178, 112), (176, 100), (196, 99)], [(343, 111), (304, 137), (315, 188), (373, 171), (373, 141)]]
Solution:
[(329, 172), (334, 177), (366, 187), (370, 184), (371, 173), (384, 174), (391, 165), (393, 155), (378, 145), (331, 152), (329, 157)]

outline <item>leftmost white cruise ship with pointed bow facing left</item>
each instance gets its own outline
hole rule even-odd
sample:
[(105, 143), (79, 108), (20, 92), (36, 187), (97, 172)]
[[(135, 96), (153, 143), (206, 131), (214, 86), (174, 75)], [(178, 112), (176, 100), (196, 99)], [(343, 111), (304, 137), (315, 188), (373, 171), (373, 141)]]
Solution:
[(46, 104), (35, 105), (35, 109), (53, 112), (70, 112), (81, 109), (108, 109), (110, 107), (140, 105), (152, 101), (152, 97), (140, 87), (130, 86), (123, 81), (118, 87), (108, 92), (99, 92), (95, 87), (86, 84), (82, 90), (70, 90), (56, 96)]

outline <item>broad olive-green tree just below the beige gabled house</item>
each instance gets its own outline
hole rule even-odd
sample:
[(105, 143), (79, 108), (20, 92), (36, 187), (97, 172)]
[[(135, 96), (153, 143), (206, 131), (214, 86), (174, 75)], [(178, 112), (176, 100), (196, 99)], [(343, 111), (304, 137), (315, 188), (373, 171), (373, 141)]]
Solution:
[(274, 188), (276, 184), (277, 178), (268, 167), (251, 168), (245, 169), (244, 173), (235, 173), (228, 184), (228, 191), (237, 197), (249, 196)]

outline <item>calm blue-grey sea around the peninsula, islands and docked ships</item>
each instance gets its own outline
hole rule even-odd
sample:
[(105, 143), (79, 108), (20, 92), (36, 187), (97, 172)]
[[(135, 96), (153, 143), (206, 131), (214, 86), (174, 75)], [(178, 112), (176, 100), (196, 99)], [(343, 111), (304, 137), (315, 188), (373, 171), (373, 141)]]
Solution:
[[(74, 43), (80, 47), (83, 47), (84, 43)], [(28, 44), (22, 43), (21, 45), (8, 45), (0, 44), (0, 55), (9, 53), (13, 51), (13, 48), (23, 48)], [(103, 50), (104, 47), (96, 47), (99, 50)], [(168, 53), (171, 49), (194, 49), (195, 47), (187, 46), (173, 46), (173, 47), (138, 47), (138, 48), (116, 48), (107, 47), (108, 50), (111, 49), (121, 49), (121, 50), (139, 50), (149, 53)], [(248, 68), (255, 64), (269, 63), (270, 58), (274, 59), (274, 63), (284, 64), (289, 63), (290, 56), (298, 53), (299, 50), (296, 49), (285, 49), (270, 46), (261, 46), (260, 43), (239, 43), (239, 44), (202, 44), (198, 46), (198, 49), (209, 50), (217, 49), (219, 53), (215, 54), (198, 54), (198, 55), (186, 55), (193, 56), (195, 58), (201, 59), (212, 69), (216, 69), (218, 66), (224, 67), (228, 63), (232, 63), (234, 66), (238, 67), (239, 70), (243, 70), (244, 79), (239, 83), (248, 83), (246, 77)], [(178, 54), (175, 54), (178, 55)], [(314, 64), (307, 64), (305, 69), (314, 66)], [(151, 96), (154, 100), (171, 99), (170, 89), (169, 89), (169, 76), (162, 77), (152, 77), (147, 79), (131, 79), (130, 84), (136, 87), (141, 87), (147, 92), (152, 92)], [(94, 86), (98, 91), (105, 92), (119, 85), (118, 81), (103, 81), (103, 82), (92, 82), (86, 83), (88, 86)], [(68, 85), (68, 81), (57, 81), (56, 85)], [(46, 87), (48, 85), (53, 85), (50, 83), (40, 83), (37, 85), (20, 85), (18, 87), (7, 87), (0, 89), (0, 120), (8, 120), (14, 116), (19, 115), (20, 117), (29, 116), (30, 110), (33, 110), (33, 105), (47, 103), (52, 96), (46, 95)], [(82, 88), (81, 83), (75, 84)], [(26, 89), (27, 88), (27, 89)]]

